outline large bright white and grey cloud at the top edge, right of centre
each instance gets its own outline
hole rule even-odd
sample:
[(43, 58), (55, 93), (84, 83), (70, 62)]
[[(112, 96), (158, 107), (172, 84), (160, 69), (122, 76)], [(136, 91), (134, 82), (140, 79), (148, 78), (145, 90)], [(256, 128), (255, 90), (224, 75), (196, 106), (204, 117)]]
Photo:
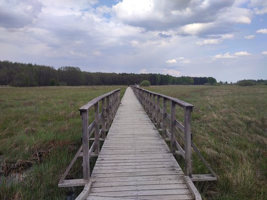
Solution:
[(177, 34), (201, 35), (223, 32), (235, 23), (251, 23), (250, 9), (223, 1), (123, 0), (113, 6), (117, 20), (146, 30), (177, 29)]

